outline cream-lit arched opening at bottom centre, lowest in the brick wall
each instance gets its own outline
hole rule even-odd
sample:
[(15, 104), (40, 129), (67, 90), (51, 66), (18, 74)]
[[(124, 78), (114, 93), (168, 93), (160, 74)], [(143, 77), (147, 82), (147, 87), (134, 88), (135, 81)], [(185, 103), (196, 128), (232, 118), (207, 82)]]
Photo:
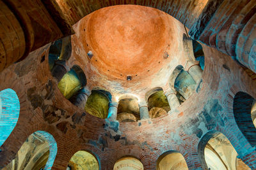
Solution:
[(143, 164), (140, 162), (140, 160), (134, 158), (134, 157), (124, 157), (122, 159), (119, 159), (116, 161), (114, 170), (142, 170)]

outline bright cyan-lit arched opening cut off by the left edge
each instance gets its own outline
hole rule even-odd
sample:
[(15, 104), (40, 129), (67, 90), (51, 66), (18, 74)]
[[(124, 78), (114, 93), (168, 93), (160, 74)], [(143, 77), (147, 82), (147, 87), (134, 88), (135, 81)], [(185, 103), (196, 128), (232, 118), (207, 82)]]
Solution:
[(0, 146), (13, 131), (18, 122), (20, 102), (16, 92), (5, 89), (0, 92)]

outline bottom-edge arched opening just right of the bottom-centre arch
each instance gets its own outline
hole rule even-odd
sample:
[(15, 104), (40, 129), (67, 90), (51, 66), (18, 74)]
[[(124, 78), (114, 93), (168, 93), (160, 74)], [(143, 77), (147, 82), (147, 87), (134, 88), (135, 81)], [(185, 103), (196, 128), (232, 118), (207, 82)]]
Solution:
[(179, 152), (169, 151), (157, 159), (157, 170), (188, 170), (186, 160)]

